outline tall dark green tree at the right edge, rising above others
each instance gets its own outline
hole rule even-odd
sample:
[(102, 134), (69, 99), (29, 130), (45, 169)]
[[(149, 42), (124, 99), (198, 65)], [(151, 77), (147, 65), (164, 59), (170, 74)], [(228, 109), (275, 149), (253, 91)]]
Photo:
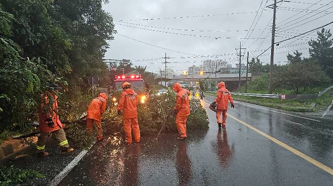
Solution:
[(309, 41), (309, 53), (311, 59), (317, 61), (325, 70), (326, 74), (333, 80), (333, 39), (330, 30), (324, 28), (317, 32), (316, 40)]

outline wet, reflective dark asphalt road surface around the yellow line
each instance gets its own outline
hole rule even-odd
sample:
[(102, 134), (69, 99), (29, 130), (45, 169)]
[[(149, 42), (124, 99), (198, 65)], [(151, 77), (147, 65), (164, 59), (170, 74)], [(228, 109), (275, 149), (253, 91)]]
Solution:
[[(143, 136), (132, 146), (110, 138), (95, 144), (59, 185), (333, 185), (333, 175), (230, 116), (226, 130), (218, 132), (215, 113), (203, 105), (209, 130), (188, 130), (184, 141), (177, 134), (157, 141)], [(247, 105), (236, 102), (228, 114), (333, 168), (332, 120)]]

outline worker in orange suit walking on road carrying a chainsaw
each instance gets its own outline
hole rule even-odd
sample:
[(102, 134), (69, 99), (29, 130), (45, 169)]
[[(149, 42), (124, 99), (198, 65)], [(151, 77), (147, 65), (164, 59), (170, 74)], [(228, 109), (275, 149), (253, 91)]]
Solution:
[[(228, 101), (230, 101), (232, 108), (234, 108), (235, 106), (234, 106), (234, 101), (231, 97), (231, 94), (228, 91), (228, 89), (226, 89), (226, 85), (224, 84), (223, 81), (221, 81), (218, 84), (218, 88), (219, 88), (219, 90), (217, 93), (217, 98), (211, 104), (211, 106), (217, 107), (216, 108), (216, 118), (218, 120), (219, 130), (221, 130), (221, 125), (222, 125), (222, 127), (226, 126)], [(222, 120), (221, 120), (221, 113), (222, 113)]]

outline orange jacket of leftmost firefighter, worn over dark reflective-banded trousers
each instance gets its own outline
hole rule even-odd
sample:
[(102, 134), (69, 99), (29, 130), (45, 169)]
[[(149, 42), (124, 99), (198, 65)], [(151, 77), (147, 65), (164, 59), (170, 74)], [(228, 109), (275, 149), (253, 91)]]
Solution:
[[(54, 99), (54, 103), (52, 104), (52, 110), (51, 111), (46, 111), (44, 110), (44, 105), (45, 103), (48, 104), (49, 103), (49, 98), (48, 96), (52, 96)], [(44, 96), (44, 101), (40, 104), (40, 108), (39, 108), (39, 131), (42, 133), (49, 133), (52, 131), (57, 131), (59, 129), (64, 128), (65, 126), (61, 123), (60, 119), (59, 119), (59, 115), (58, 115), (58, 102), (57, 102), (57, 96), (54, 95), (53, 93), (48, 92), (47, 94), (42, 94), (42, 96)], [(45, 113), (47, 112), (47, 113)], [(48, 126), (48, 118), (52, 117), (52, 121), (54, 122), (54, 127), (50, 128)]]

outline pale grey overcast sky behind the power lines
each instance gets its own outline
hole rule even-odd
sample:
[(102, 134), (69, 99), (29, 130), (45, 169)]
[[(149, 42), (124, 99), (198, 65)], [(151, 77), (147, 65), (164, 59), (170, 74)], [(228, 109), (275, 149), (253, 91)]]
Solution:
[[(131, 59), (134, 65), (147, 66), (151, 72), (164, 68), (162, 57), (165, 53), (171, 57), (168, 66), (176, 73), (192, 65), (198, 66), (205, 59), (224, 59), (236, 64), (239, 62), (235, 48), (239, 48), (239, 42), (242, 48), (246, 48), (243, 51), (249, 51), (250, 59), (270, 46), (273, 11), (265, 7), (272, 3), (273, 0), (110, 0), (103, 9), (112, 15), (117, 34), (109, 41), (110, 48), (105, 57)], [(333, 20), (333, 1), (329, 0), (292, 0), (279, 3), (278, 7), (275, 41)], [(325, 28), (332, 29), (333, 24)], [(307, 41), (315, 34), (275, 46), (276, 63), (285, 64), (287, 52), (296, 49), (308, 56)], [(269, 63), (270, 49), (259, 58), (263, 63)], [(242, 63), (246, 63), (246, 53)]]

